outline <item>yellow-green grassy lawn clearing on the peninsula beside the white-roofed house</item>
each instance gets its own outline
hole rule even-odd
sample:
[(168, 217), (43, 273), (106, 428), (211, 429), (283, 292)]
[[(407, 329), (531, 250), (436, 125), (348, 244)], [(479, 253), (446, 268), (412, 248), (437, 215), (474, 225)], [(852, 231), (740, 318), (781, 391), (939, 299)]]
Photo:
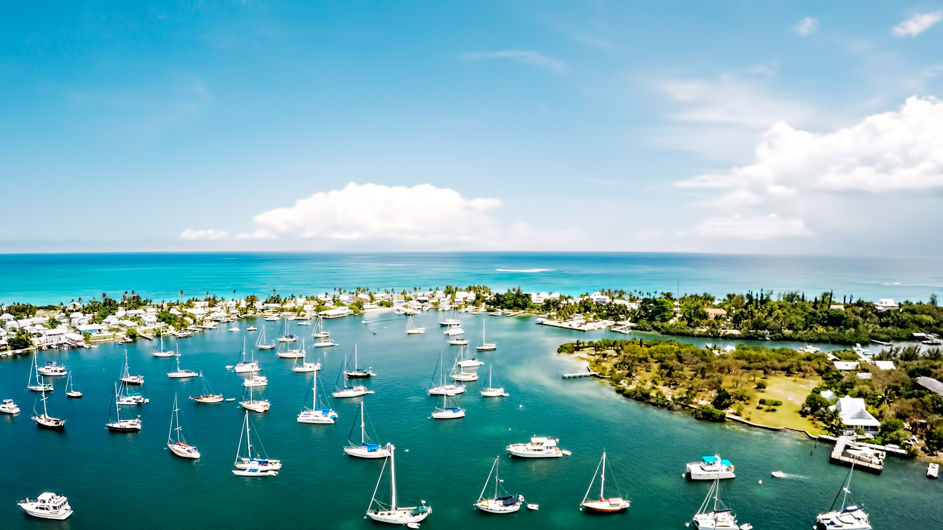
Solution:
[[(766, 382), (767, 389), (762, 391), (753, 390), (755, 394), (743, 411), (744, 418), (748, 422), (769, 425), (770, 427), (802, 429), (813, 435), (821, 432), (819, 427), (799, 415), (799, 409), (805, 401), (805, 396), (809, 395), (809, 392), (819, 385), (818, 380), (796, 380), (785, 375), (773, 375), (762, 381)], [(767, 412), (765, 407), (763, 410), (759, 410), (756, 406), (761, 399), (779, 400), (783, 402), (783, 405), (777, 406), (775, 412)]]

